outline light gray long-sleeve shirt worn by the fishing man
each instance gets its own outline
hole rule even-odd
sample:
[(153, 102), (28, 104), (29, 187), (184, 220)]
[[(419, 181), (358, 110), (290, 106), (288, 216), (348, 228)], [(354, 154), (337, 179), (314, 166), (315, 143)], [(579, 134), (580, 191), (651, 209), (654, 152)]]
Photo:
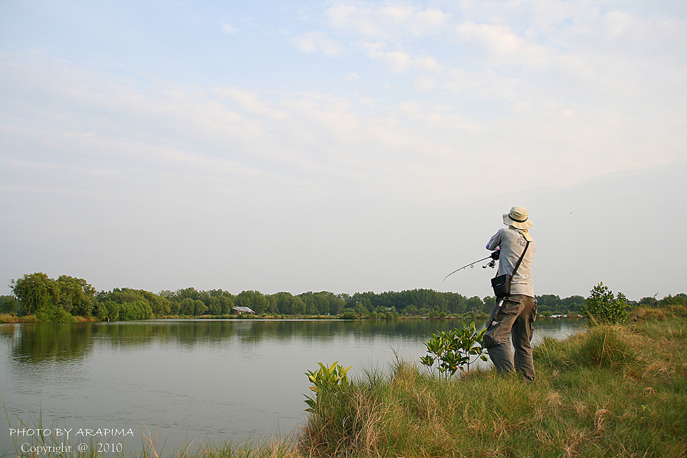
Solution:
[[(526, 243), (522, 233), (513, 226), (499, 229), (499, 231), (494, 234), (486, 245), (486, 249), (495, 250), (497, 247), (501, 249), (501, 254), (499, 255), (499, 271), (497, 275), (504, 275), (504, 273), (513, 274), (515, 264), (517, 264), (517, 260), (520, 259)], [(534, 297), (534, 282), (532, 282), (532, 259), (534, 258), (534, 251), (536, 251), (536, 249), (534, 248), (534, 240), (532, 240), (517, 269), (515, 277), (511, 280), (510, 294), (521, 294)]]

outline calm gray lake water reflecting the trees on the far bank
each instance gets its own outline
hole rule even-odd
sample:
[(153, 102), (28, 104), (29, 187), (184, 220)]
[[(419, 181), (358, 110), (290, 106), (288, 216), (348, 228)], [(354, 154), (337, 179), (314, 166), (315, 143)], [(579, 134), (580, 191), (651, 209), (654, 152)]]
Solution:
[[(137, 453), (152, 434), (160, 453), (184, 444), (293, 437), (304, 421), (304, 375), (317, 362), (386, 370), (419, 363), (433, 332), (460, 320), (194, 320), (0, 325), (0, 456), (10, 428), (71, 429), (71, 444), (119, 444)], [(484, 322), (477, 322), (478, 328)], [(578, 332), (578, 321), (538, 319), (535, 342)], [(486, 363), (485, 363), (486, 364)], [(42, 425), (42, 426), (41, 426)], [(92, 430), (89, 433), (86, 430)], [(100, 431), (98, 431), (100, 429)], [(109, 430), (128, 433), (114, 436)], [(77, 433), (80, 434), (77, 435)], [(29, 433), (28, 431), (26, 433)], [(61, 440), (60, 440), (61, 439)], [(35, 443), (35, 441), (34, 441)], [(116, 447), (116, 445), (115, 445)], [(121, 456), (121, 454), (120, 454)]]

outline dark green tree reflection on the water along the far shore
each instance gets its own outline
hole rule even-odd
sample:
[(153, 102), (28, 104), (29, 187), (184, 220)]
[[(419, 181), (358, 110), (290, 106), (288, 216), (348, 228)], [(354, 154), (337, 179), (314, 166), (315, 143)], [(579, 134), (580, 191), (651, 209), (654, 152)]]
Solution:
[[(111, 347), (145, 347), (152, 343), (189, 347), (220, 343), (234, 337), (240, 343), (292, 341), (306, 339), (320, 343), (333, 342), (342, 335), (401, 336), (404, 339), (427, 339), (433, 332), (462, 326), (462, 320), (166, 320), (127, 323), (25, 323), (0, 325), (0, 339), (11, 347), (12, 359), (18, 363), (43, 360), (80, 359), (93, 351), (95, 342)], [(536, 335), (561, 337), (577, 330), (576, 321), (539, 319)], [(477, 328), (484, 321), (477, 320)]]

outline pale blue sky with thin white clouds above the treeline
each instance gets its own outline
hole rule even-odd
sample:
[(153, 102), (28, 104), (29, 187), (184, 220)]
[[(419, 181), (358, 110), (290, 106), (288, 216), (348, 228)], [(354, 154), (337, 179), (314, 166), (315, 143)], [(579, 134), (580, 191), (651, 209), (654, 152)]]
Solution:
[(0, 293), (685, 292), (684, 1), (0, 0)]

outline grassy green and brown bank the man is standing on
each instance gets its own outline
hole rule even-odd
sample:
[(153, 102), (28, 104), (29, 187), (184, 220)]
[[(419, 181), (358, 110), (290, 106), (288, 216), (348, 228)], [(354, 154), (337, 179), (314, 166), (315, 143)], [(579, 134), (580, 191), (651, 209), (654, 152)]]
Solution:
[(296, 437), (182, 450), (150, 441), (139, 456), (684, 457), (687, 308), (633, 312), (637, 321), (544, 338), (532, 383), (488, 369), (433, 376), (397, 360), (319, 390)]

